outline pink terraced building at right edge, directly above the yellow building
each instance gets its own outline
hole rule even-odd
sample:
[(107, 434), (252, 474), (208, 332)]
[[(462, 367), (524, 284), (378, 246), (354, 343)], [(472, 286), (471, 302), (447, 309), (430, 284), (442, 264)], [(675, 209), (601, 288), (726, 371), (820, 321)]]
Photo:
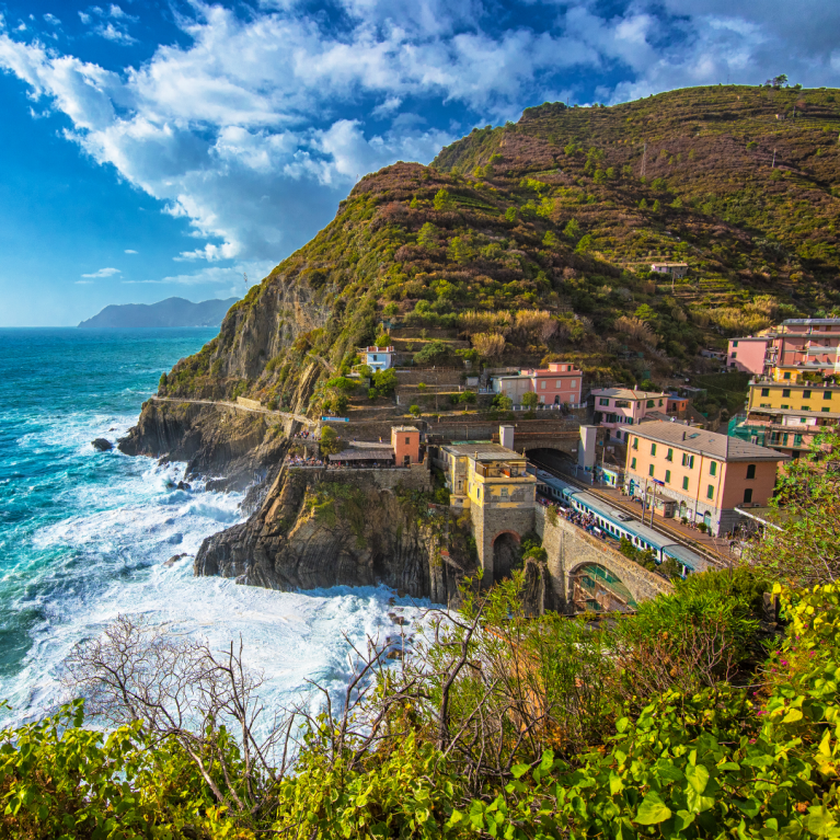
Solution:
[(756, 376), (773, 367), (819, 365), (837, 372), (840, 319), (797, 318), (766, 330), (763, 335), (730, 338), (726, 366)]

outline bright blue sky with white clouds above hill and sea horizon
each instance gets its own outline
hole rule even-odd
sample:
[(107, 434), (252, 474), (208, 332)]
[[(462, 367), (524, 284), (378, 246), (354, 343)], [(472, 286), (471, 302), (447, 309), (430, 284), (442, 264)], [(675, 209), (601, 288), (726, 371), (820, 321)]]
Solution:
[(357, 179), (545, 101), (840, 87), (836, 0), (0, 0), (0, 326), (241, 297)]

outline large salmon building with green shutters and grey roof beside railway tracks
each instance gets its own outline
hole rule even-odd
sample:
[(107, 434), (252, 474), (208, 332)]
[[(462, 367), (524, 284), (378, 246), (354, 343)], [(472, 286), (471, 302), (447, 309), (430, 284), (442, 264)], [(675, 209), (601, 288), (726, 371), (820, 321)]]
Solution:
[(766, 505), (776, 468), (789, 457), (746, 440), (681, 423), (642, 423), (630, 431), (625, 490), (666, 516), (705, 522), (717, 536), (740, 519), (739, 507)]

